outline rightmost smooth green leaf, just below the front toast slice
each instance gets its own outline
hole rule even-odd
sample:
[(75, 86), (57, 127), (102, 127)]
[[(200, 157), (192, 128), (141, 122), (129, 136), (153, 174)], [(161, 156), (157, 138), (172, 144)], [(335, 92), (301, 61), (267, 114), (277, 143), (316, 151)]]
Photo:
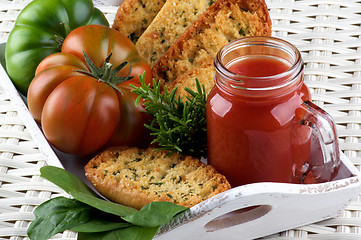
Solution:
[(169, 222), (176, 214), (188, 208), (171, 202), (152, 202), (140, 211), (123, 217), (127, 222), (143, 227), (156, 227)]

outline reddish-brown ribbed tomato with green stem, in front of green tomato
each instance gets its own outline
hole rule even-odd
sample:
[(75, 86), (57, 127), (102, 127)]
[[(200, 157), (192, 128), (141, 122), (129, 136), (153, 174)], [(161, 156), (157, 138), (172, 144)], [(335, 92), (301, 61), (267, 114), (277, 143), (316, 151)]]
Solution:
[(65, 153), (144, 146), (150, 117), (142, 104), (135, 105), (129, 86), (140, 85), (143, 73), (151, 83), (149, 65), (128, 38), (102, 25), (79, 27), (65, 38), (60, 53), (38, 65), (28, 90), (29, 110), (48, 141)]

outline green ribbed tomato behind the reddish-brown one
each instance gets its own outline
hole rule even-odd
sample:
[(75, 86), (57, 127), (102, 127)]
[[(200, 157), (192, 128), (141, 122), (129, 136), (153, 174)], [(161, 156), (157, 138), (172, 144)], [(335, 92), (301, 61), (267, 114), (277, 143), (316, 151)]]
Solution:
[(17, 89), (27, 94), (38, 64), (61, 51), (64, 38), (75, 28), (109, 26), (92, 0), (34, 0), (19, 14), (5, 49), (6, 70)]

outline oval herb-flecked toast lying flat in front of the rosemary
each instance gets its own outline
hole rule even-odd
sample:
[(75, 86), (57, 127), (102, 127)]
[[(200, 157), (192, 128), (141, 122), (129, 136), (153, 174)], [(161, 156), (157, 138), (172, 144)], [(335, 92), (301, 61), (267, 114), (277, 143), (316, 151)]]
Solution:
[(109, 200), (140, 209), (154, 201), (192, 207), (231, 188), (196, 158), (152, 148), (110, 148), (85, 166), (89, 181)]

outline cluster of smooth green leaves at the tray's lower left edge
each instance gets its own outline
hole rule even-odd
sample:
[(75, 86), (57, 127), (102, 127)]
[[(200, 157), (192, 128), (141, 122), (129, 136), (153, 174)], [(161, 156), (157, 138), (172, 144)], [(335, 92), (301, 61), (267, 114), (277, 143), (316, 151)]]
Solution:
[(188, 208), (170, 202), (153, 202), (141, 210), (101, 199), (74, 174), (57, 167), (40, 169), (73, 198), (52, 198), (34, 210), (28, 227), (31, 240), (47, 240), (65, 230), (78, 232), (78, 240), (151, 240), (159, 227)]

